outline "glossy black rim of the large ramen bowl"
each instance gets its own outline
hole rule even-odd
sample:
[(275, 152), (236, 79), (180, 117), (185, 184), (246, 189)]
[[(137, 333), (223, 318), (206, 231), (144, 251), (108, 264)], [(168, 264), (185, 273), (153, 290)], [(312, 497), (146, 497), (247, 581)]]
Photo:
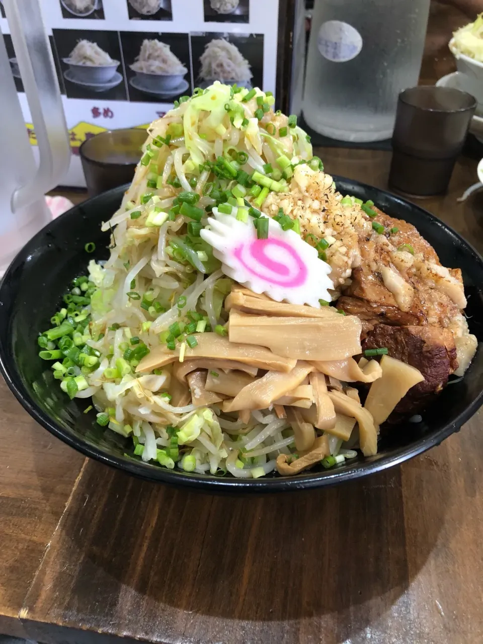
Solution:
[[(431, 222), (434, 223), (439, 228), (444, 228), (450, 234), (452, 234), (459, 242), (466, 247), (476, 260), (479, 261), (483, 266), (483, 258), (480, 256), (478, 251), (458, 232), (452, 229), (448, 224), (442, 222), (435, 215), (431, 214), (429, 211), (426, 211), (424, 208), (412, 202), (408, 202), (404, 198), (397, 196), (395, 194), (389, 193), (383, 189), (364, 184), (355, 180), (347, 179), (343, 176), (333, 175), (334, 181), (336, 182), (346, 182), (347, 184), (355, 185), (361, 189), (370, 190), (374, 193), (375, 198), (382, 202), (383, 198), (389, 198), (392, 203), (399, 203), (409, 205), (412, 209), (415, 209), (422, 216), (429, 218)], [(129, 184), (119, 186), (112, 190), (102, 193), (98, 196), (95, 196), (85, 202), (82, 202), (83, 208), (89, 208), (90, 204), (93, 204), (96, 200), (104, 201), (106, 196), (111, 196), (113, 198), (122, 198), (122, 194), (129, 187)], [(345, 188), (346, 189), (346, 188)], [(14, 274), (15, 270), (19, 269), (24, 263), (24, 260), (33, 247), (36, 247), (37, 240), (41, 235), (44, 235), (46, 232), (52, 231), (56, 225), (58, 225), (59, 220), (64, 217), (76, 216), (76, 211), (79, 208), (79, 205), (74, 206), (66, 213), (62, 214), (61, 217), (52, 220), (44, 226), (41, 231), (37, 232), (33, 238), (26, 243), (26, 245), (17, 253), (14, 260), (5, 271), (3, 279), (0, 281), (0, 302), (2, 300), (1, 292), (4, 285), (10, 279), (10, 275)], [(214, 477), (213, 475), (201, 475), (196, 473), (186, 473), (182, 470), (176, 469), (175, 471), (158, 468), (156, 466), (149, 466), (142, 462), (138, 462), (133, 459), (126, 457), (118, 457), (115, 455), (108, 455), (99, 448), (88, 444), (79, 437), (64, 431), (60, 426), (50, 419), (50, 417), (33, 401), (30, 399), (29, 393), (26, 391), (24, 384), (21, 381), (19, 372), (16, 369), (14, 361), (10, 361), (8, 355), (6, 355), (6, 347), (3, 346), (2, 338), (0, 336), (0, 374), (5, 378), (6, 384), (10, 391), (14, 393), (15, 398), (23, 406), (24, 410), (30, 414), (30, 416), (46, 430), (50, 431), (54, 436), (61, 439), (63, 442), (73, 447), (75, 450), (80, 451), (86, 457), (91, 459), (99, 460), (106, 465), (109, 465), (113, 468), (120, 469), (122, 471), (128, 471), (131, 475), (134, 475), (137, 478), (143, 478), (144, 480), (150, 480), (151, 482), (160, 482), (166, 483), (180, 488), (191, 488), (198, 489), (205, 493), (274, 493), (282, 491), (295, 491), (301, 489), (314, 489), (321, 488), (325, 486), (332, 486), (342, 482), (363, 478), (370, 474), (374, 474), (384, 469), (391, 468), (395, 465), (403, 463), (405, 460), (411, 459), (417, 455), (420, 455), (426, 450), (440, 444), (442, 440), (448, 438), (455, 431), (459, 431), (461, 426), (468, 421), (478, 408), (483, 404), (483, 389), (478, 393), (477, 397), (469, 404), (453, 421), (446, 422), (439, 430), (433, 431), (433, 433), (426, 436), (420, 437), (415, 440), (408, 446), (401, 447), (395, 451), (392, 451), (390, 455), (381, 455), (381, 457), (374, 460), (368, 459), (357, 459), (354, 460), (353, 464), (346, 464), (343, 469), (334, 469), (327, 470), (325, 472), (316, 472), (297, 475), (296, 477), (277, 477), (277, 478), (257, 478), (257, 479), (236, 479), (236, 478), (219, 478)]]

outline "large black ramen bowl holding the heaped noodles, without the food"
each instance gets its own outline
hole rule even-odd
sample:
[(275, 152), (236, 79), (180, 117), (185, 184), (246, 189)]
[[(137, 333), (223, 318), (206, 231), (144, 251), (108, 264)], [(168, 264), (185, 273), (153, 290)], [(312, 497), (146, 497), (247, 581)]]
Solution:
[[(417, 205), (345, 178), (336, 177), (336, 183), (342, 193), (372, 199), (387, 214), (415, 225), (433, 245), (443, 265), (462, 270), (469, 328), (482, 341), (483, 260), (475, 249)], [(295, 477), (275, 473), (250, 480), (168, 470), (125, 457), (129, 439), (100, 427), (95, 422), (95, 413), (84, 414), (89, 404), (86, 399), (68, 399), (59, 382), (53, 379), (50, 363), (39, 358), (37, 346), (37, 334), (51, 326), (50, 317), (70, 280), (84, 272), (92, 258), (108, 258), (109, 235), (100, 231), (100, 223), (117, 209), (124, 189), (113, 189), (77, 205), (44, 227), (19, 252), (0, 285), (0, 369), (6, 383), (36, 421), (76, 450), (141, 478), (204, 491), (247, 493), (317, 488), (368, 476), (438, 445), (458, 431), (482, 404), (483, 350), (478, 345), (464, 379), (444, 390), (444, 395), (422, 412), (421, 422), (403, 422), (384, 433), (379, 452), (373, 457), (360, 455), (336, 468), (312, 469)], [(91, 255), (84, 250), (88, 242), (96, 245)]]

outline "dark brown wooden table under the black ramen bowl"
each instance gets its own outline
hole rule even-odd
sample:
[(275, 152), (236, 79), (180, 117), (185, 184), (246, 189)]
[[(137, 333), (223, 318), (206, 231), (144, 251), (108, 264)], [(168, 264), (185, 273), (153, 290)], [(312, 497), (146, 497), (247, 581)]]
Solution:
[[(384, 187), (389, 153), (319, 151)], [(459, 161), (423, 205), (480, 251)], [(263, 498), (140, 482), (53, 438), (0, 385), (0, 632), (49, 643), (483, 641), (482, 416), (354, 484)]]

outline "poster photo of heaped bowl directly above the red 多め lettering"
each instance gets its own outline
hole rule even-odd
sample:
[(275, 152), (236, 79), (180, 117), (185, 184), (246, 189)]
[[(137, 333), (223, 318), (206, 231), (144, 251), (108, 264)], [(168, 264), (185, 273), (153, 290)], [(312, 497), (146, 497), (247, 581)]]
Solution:
[(69, 99), (127, 100), (117, 32), (53, 29)]

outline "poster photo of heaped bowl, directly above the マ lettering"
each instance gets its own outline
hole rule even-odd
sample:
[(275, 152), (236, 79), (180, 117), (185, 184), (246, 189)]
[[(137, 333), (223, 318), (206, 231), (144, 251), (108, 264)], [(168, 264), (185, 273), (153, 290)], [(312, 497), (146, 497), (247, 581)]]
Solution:
[(191, 94), (187, 33), (121, 32), (129, 100), (172, 103)]

